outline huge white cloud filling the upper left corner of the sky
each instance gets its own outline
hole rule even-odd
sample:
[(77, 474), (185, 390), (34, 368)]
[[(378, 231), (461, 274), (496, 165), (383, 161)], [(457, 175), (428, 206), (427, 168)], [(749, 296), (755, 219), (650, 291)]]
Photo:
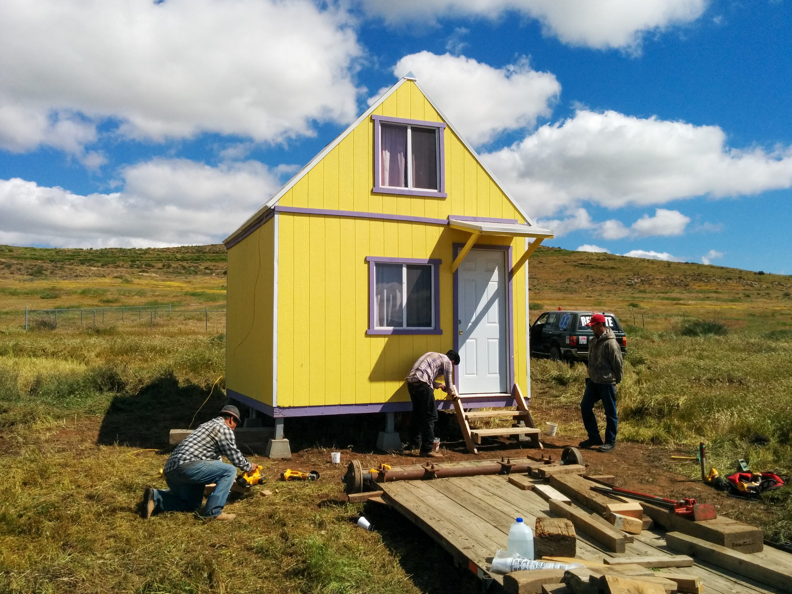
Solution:
[(0, 148), (95, 166), (97, 124), (276, 142), (356, 113), (348, 16), (310, 0), (0, 2)]

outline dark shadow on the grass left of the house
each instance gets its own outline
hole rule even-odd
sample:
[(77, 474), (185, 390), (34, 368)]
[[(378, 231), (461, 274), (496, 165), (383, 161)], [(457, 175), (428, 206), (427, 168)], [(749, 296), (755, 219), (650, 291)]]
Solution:
[[(102, 419), (97, 444), (167, 447), (170, 429), (187, 428), (209, 392), (192, 383), (180, 386), (173, 372), (167, 372), (137, 394), (119, 394), (112, 399)], [(192, 428), (214, 418), (227, 401), (223, 390), (215, 388), (196, 415)]]

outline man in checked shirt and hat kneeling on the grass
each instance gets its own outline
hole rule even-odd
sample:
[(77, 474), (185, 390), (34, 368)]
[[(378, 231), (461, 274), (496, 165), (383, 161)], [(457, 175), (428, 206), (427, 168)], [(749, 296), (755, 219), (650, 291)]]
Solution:
[[(223, 512), (223, 505), (234, 484), (238, 466), (245, 472), (259, 466), (249, 462), (237, 449), (234, 428), (239, 424), (239, 409), (224, 406), (219, 417), (207, 421), (177, 445), (165, 463), (168, 489), (148, 487), (143, 493), (141, 513), (148, 520), (154, 512), (195, 512), (204, 501), (204, 488), (215, 483), (206, 505), (199, 512), (208, 520), (234, 520), (236, 514)], [(225, 455), (234, 466), (223, 463)]]

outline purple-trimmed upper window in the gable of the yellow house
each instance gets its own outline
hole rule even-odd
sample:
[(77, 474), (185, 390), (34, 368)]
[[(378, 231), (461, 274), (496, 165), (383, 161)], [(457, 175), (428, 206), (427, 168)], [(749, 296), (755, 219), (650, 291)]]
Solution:
[(445, 197), (445, 124), (372, 116), (375, 192)]

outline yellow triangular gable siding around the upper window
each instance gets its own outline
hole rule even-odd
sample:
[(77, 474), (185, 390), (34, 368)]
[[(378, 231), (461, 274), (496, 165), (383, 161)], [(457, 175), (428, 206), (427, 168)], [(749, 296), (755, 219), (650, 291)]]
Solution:
[[(410, 81), (383, 101), (375, 114), (443, 121), (421, 90)], [(367, 119), (289, 189), (278, 204), (436, 219), (445, 219), (447, 215), (497, 217), (524, 223), (520, 212), (449, 128), (445, 128), (444, 142), (447, 198), (371, 192), (374, 187), (374, 123)]]

